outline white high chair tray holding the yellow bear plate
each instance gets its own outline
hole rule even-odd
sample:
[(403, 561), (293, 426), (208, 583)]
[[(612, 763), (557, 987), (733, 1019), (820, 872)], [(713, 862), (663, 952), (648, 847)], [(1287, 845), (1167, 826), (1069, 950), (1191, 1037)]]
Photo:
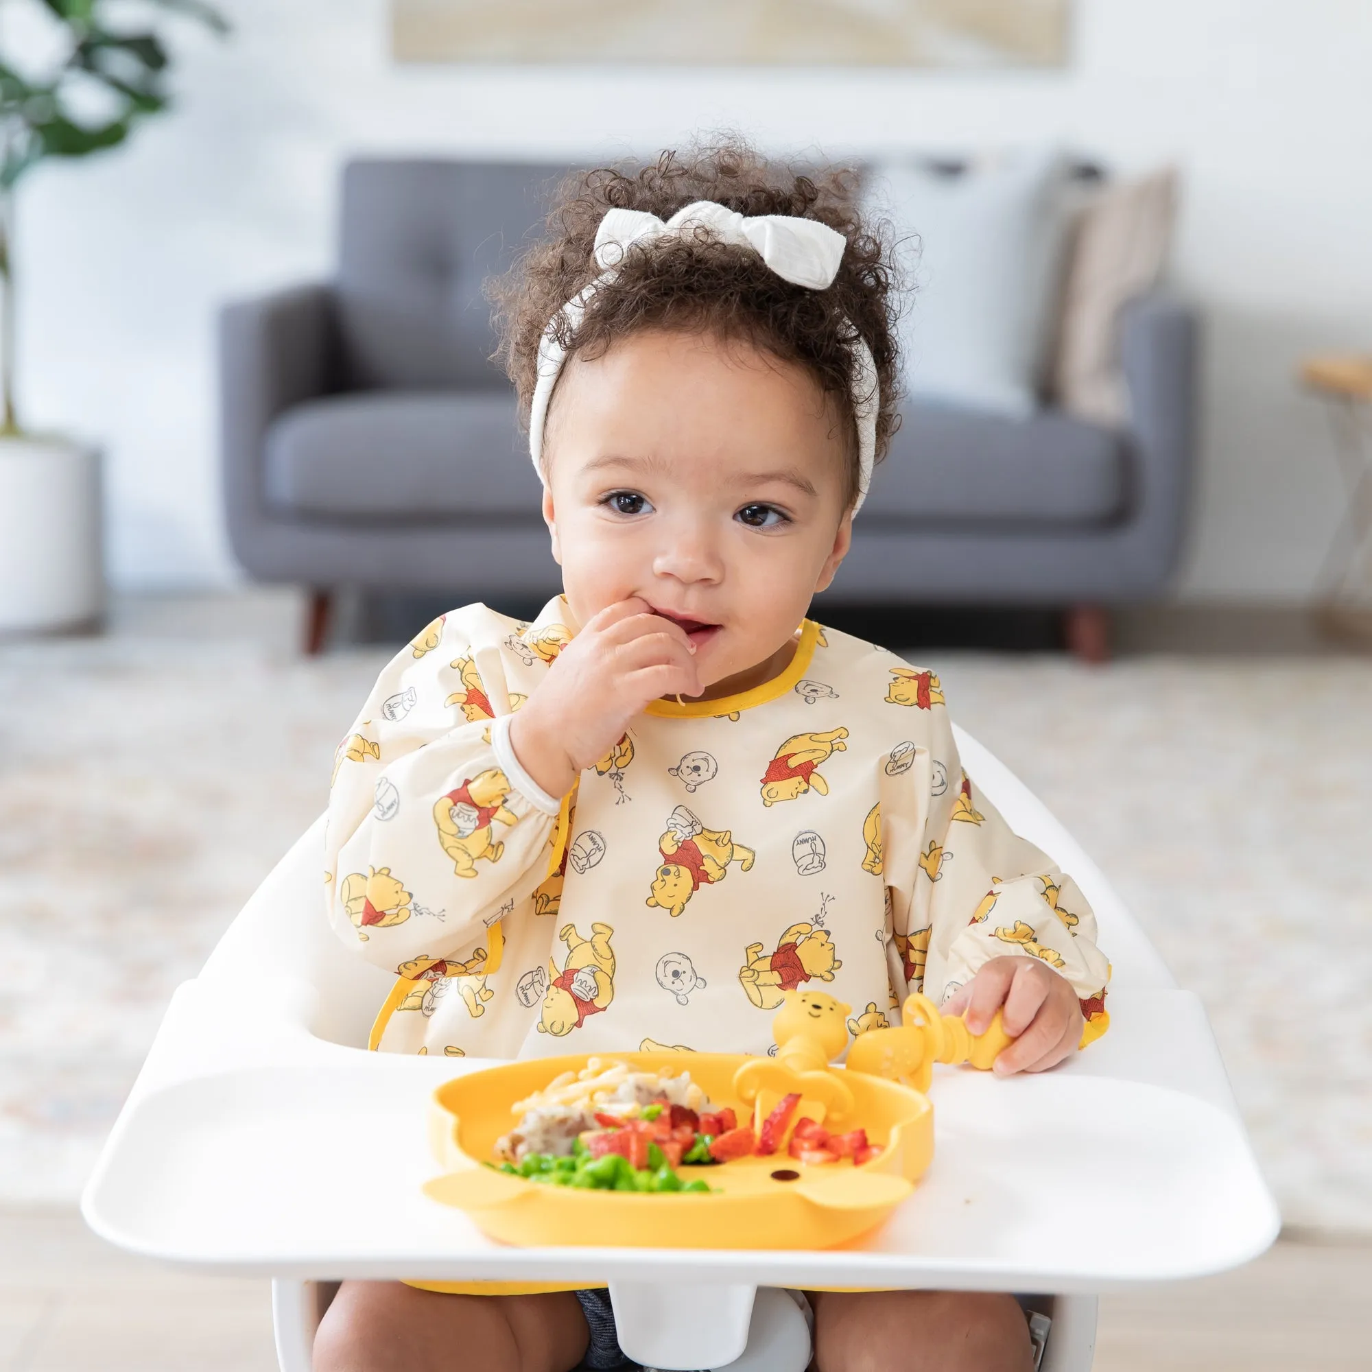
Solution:
[[(274, 1063), (222, 1073), (154, 1054), (84, 1209), (106, 1239), (148, 1257), (300, 1277), (1095, 1292), (1247, 1261), (1272, 1242), (1277, 1217), (1199, 1004), (1180, 991), (1121, 993), (1111, 1014), (1110, 1034), (1052, 1074), (944, 1069), (932, 1091), (933, 1166), (852, 1249), (494, 1243), (420, 1190), (439, 1170), (429, 1093), (487, 1063), (368, 1055), (303, 1036)], [(189, 982), (161, 1041), (203, 1047), (206, 1018), (236, 1017)]]

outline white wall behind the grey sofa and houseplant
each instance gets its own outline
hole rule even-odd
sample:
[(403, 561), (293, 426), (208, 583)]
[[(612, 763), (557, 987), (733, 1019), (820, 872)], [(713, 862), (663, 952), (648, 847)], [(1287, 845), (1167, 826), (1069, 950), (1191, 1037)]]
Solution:
[(237, 0), (180, 48), (180, 108), (125, 151), (41, 169), (21, 207), (22, 398), (110, 454), (123, 586), (232, 579), (213, 314), (328, 270), (357, 151), (650, 151), (696, 128), (831, 154), (1056, 137), (1184, 174), (1173, 276), (1205, 311), (1205, 442), (1180, 591), (1299, 598), (1338, 514), (1314, 347), (1372, 350), (1372, 5), (1077, 0), (1052, 73), (398, 67), (384, 0)]

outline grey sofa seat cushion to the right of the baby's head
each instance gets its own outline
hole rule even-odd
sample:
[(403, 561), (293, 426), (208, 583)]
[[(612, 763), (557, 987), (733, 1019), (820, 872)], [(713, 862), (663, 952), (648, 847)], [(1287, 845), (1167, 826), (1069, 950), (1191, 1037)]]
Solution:
[(906, 405), (863, 525), (1106, 524), (1128, 498), (1128, 439), (1058, 410), (1007, 420)]

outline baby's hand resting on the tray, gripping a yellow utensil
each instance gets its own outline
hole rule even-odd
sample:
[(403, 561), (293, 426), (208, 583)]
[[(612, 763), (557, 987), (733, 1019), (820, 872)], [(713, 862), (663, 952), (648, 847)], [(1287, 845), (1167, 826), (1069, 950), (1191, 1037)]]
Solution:
[(966, 1014), (973, 1033), (985, 1033), (996, 1011), (1014, 1043), (996, 1058), (992, 1070), (1047, 1072), (1070, 1058), (1081, 1043), (1084, 1018), (1077, 992), (1037, 958), (992, 958), (943, 1007), (944, 1014)]

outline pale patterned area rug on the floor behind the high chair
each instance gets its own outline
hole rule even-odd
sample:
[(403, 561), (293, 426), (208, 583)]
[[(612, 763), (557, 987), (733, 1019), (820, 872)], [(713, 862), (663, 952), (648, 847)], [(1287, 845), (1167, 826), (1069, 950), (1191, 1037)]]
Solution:
[[(70, 1200), (386, 653), (0, 648), (0, 1200)], [(948, 657), (1205, 999), (1288, 1222), (1372, 1232), (1372, 661)]]

